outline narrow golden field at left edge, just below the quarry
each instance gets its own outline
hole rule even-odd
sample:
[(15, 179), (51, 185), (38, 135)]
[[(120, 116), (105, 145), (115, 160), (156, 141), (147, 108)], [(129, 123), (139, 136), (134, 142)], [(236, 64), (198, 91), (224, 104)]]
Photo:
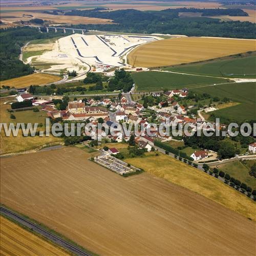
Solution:
[(61, 80), (60, 76), (43, 74), (43, 73), (34, 73), (27, 76), (21, 76), (17, 78), (12, 78), (0, 82), (0, 86), (10, 86), (15, 88), (23, 88), (33, 85), (46, 84), (51, 82), (57, 82)]

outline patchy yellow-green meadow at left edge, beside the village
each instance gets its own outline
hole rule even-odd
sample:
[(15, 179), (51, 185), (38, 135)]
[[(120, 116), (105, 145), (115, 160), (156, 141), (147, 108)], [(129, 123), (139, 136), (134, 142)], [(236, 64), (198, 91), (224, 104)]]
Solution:
[[(40, 112), (33, 112), (32, 110), (28, 111), (19, 111), (14, 112), (12, 114), (15, 115), (16, 119), (10, 118), (10, 113), (7, 112), (7, 109), (11, 109), (10, 104), (4, 104), (7, 101), (13, 100), (13, 97), (8, 98), (2, 98), (0, 100), (0, 121), (2, 123), (7, 123), (9, 125), (10, 122), (17, 123), (17, 122), (24, 122), (24, 123), (42, 123), (45, 125), (45, 118), (46, 112), (40, 111)], [(44, 126), (38, 127), (39, 130), (44, 130)], [(10, 154), (10, 153), (18, 153), (18, 152), (24, 152), (29, 150), (34, 150), (35, 148), (38, 148), (42, 145), (55, 145), (55, 144), (61, 144), (62, 139), (59, 137), (54, 137), (50, 135), (49, 137), (24, 137), (22, 135), (22, 131), (19, 130), (18, 136), (10, 136), (7, 137), (5, 135), (4, 129), (2, 129), (0, 134), (0, 154)]]

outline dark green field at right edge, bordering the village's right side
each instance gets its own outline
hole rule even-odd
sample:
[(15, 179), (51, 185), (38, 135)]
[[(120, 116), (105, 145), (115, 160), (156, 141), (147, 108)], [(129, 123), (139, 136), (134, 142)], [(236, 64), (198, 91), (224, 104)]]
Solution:
[(227, 97), (234, 102), (241, 103), (210, 112), (210, 114), (214, 113), (216, 117), (220, 117), (222, 122), (226, 122), (227, 119), (242, 122), (256, 118), (256, 82), (221, 84), (200, 87), (193, 89), (193, 91), (197, 93), (205, 92), (220, 99)]

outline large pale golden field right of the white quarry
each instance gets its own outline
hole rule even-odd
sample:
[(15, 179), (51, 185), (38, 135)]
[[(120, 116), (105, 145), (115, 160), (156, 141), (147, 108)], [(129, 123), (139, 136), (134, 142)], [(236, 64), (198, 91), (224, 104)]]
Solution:
[(182, 37), (149, 42), (138, 46), (128, 56), (130, 65), (158, 67), (178, 65), (255, 51), (256, 40), (214, 37)]

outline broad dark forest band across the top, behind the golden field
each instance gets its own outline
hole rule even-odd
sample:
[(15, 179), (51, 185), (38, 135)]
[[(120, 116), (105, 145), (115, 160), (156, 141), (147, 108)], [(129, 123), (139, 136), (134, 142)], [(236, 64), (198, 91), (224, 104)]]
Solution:
[[(179, 18), (177, 9), (163, 11), (138, 11), (134, 9), (117, 11), (73, 10), (66, 15), (89, 16), (113, 19), (116, 24), (72, 25), (79, 29), (117, 31), (127, 33), (184, 34), (187, 36), (220, 36), (233, 38), (255, 38), (256, 25), (250, 22), (221, 22), (215, 18)], [(182, 9), (184, 11), (184, 9)], [(189, 10), (189, 9), (186, 9)], [(203, 9), (202, 9), (203, 10)], [(202, 11), (201, 10), (201, 11)], [(212, 10), (217, 15), (222, 9)], [(243, 14), (240, 9), (226, 9), (230, 14)], [(234, 10), (234, 11), (233, 11)], [(238, 11), (239, 10), (239, 11)], [(191, 11), (191, 10), (190, 10)], [(209, 11), (210, 12), (210, 11)], [(209, 13), (208, 12), (208, 13)], [(214, 13), (213, 13), (214, 12)], [(225, 11), (226, 12), (226, 11)], [(206, 13), (206, 11), (205, 11)], [(219, 14), (218, 14), (219, 15)]]

